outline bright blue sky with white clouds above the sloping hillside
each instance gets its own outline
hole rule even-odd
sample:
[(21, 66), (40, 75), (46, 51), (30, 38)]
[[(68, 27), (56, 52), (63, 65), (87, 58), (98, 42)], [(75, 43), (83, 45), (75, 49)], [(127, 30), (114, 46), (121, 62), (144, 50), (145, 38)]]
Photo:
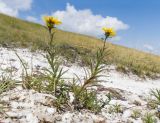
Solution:
[[(80, 19), (83, 20), (85, 15), (89, 16), (92, 23), (88, 22), (89, 19), (85, 20), (88, 22), (87, 27), (90, 28), (86, 32), (81, 27), (71, 28), (70, 23), (73, 22), (69, 19), (60, 28), (78, 33), (84, 31), (89, 35), (97, 33), (98, 37), (101, 36), (100, 32), (91, 32), (91, 30), (97, 29), (96, 26), (90, 27), (89, 25), (103, 23), (98, 18), (103, 21), (117, 19), (115, 20), (116, 26), (111, 23), (111, 26), (113, 25), (118, 30), (118, 37), (112, 41), (113, 43), (160, 54), (160, 0), (23, 0), (23, 2), (22, 0), (12, 0), (12, 3), (6, 1), (10, 0), (0, 0), (0, 12), (10, 14), (9, 10), (11, 10), (12, 14), (14, 12), (15, 16), (19, 18), (39, 23), (41, 23), (41, 16), (46, 14), (62, 19), (71, 17), (77, 23), (80, 23)], [(69, 3), (69, 10), (66, 9), (67, 3)], [(24, 7), (18, 6), (23, 6), (22, 4), (25, 4)], [(16, 6), (18, 7), (16, 8)], [(71, 16), (70, 10), (76, 11), (76, 17), (73, 17), (74, 14)], [(110, 18), (106, 19), (107, 16)]]

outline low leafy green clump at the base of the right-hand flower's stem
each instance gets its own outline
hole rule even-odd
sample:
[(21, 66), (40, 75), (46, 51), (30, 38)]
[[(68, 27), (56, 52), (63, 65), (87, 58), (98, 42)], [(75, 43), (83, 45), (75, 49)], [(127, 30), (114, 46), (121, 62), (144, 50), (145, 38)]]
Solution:
[(75, 98), (73, 101), (75, 110), (80, 111), (81, 109), (88, 109), (95, 113), (99, 113), (101, 109), (104, 108), (104, 106), (107, 105), (111, 100), (109, 95), (106, 95), (107, 99), (105, 101), (99, 100), (97, 98), (96, 90), (83, 89), (83, 91), (80, 92), (81, 86), (74, 84), (71, 87), (73, 89)]

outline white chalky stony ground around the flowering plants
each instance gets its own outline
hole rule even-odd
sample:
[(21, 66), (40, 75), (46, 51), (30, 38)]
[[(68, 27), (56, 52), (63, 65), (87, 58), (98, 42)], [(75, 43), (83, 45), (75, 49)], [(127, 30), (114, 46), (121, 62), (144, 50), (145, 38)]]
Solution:
[[(1, 75), (8, 75), (15, 80), (21, 80), (22, 65), (15, 52), (28, 63), (28, 70), (34, 72), (48, 67), (43, 57), (43, 52), (30, 52), (28, 49), (0, 48)], [(78, 64), (69, 64), (61, 58), (64, 70), (68, 70), (63, 78), (69, 81), (77, 74), (83, 79), (85, 73)], [(99, 114), (87, 110), (81, 112), (69, 110), (59, 114), (53, 106), (55, 97), (50, 94), (38, 93), (34, 90), (25, 90), (21, 86), (4, 92), (1, 100), (9, 106), (5, 109), (7, 117), (0, 117), (4, 123), (142, 123), (143, 116), (147, 112), (155, 113), (156, 110), (147, 107), (151, 89), (160, 89), (160, 79), (141, 79), (132, 73), (128, 75), (117, 72), (116, 66), (105, 66), (104, 82), (97, 87), (100, 98), (105, 99), (110, 92), (113, 95), (111, 102), (106, 105)], [(12, 71), (12, 72), (11, 72)], [(120, 106), (119, 109), (113, 110)], [(133, 118), (133, 111), (139, 110), (138, 118)], [(156, 117), (157, 122), (160, 120)]]

